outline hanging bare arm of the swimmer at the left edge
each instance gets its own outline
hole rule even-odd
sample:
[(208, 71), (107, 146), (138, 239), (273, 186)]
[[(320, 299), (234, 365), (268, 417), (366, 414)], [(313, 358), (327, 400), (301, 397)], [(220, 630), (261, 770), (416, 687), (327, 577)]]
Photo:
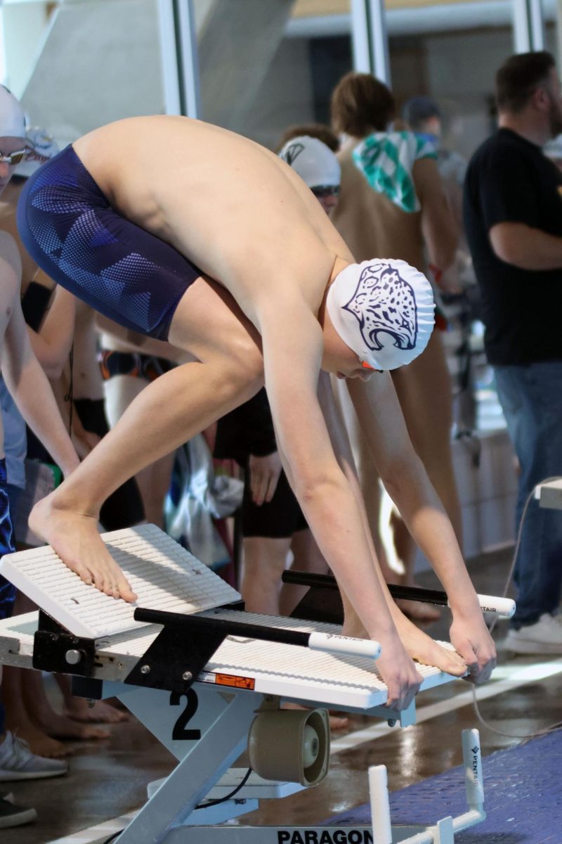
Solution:
[(13, 311), (6, 328), (2, 372), (19, 412), (51, 452), (66, 477), (78, 466), (78, 456), (62, 422), (49, 381), (31, 348), (19, 296), (13, 301)]

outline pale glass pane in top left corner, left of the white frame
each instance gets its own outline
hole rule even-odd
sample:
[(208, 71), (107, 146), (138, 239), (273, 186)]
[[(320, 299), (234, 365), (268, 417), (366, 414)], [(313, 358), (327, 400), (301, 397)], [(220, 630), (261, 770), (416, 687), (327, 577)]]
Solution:
[(4, 80), (59, 145), (163, 111), (157, 0), (4, 3)]

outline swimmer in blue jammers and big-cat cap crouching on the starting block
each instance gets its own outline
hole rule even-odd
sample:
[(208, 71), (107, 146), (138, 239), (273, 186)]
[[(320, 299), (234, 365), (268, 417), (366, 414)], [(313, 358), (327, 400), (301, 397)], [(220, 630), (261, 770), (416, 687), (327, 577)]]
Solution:
[[(376, 268), (353, 265), (288, 165), (247, 138), (186, 117), (130, 118), (80, 138), (29, 179), (18, 222), (51, 278), (106, 317), (192, 357), (153, 381), (32, 512), (32, 529), (72, 571), (115, 598), (135, 599), (99, 538), (101, 503), (254, 395), (265, 371), (287, 477), (340, 582), (345, 633), (383, 646), (377, 668), (388, 705), (408, 706), (419, 688), (411, 657), (456, 675), (466, 663), (472, 679), (488, 679), (495, 648), (452, 527), (407, 445), (388, 374), (364, 368), (383, 368), (385, 355), (397, 365), (399, 346), (398, 363), (424, 348), (432, 306), (419, 274), (410, 279), (412, 289), (419, 285), (415, 317), (409, 285), (393, 270), (381, 279)], [(393, 279), (398, 311), (388, 297)], [(383, 289), (393, 333), (379, 350), (382, 335), (375, 331), (373, 341), (368, 332), (380, 317), (376, 303), (369, 310), (373, 287)], [(379, 471), (447, 591), (460, 657), (410, 625), (388, 594), (329, 372), (353, 379), (360, 417), (376, 414)], [(377, 389), (367, 396), (358, 381), (369, 377)]]

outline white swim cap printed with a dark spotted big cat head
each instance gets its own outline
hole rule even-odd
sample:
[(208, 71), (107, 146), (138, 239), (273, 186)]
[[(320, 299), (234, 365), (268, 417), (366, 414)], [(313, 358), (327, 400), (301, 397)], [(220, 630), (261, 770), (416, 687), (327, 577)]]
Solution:
[(433, 331), (431, 284), (393, 258), (350, 264), (330, 284), (326, 306), (340, 338), (377, 370), (415, 360)]

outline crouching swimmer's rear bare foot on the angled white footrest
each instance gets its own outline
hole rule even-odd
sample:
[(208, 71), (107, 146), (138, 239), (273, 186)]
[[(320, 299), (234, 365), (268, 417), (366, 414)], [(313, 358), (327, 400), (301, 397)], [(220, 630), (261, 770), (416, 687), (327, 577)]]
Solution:
[(31, 530), (84, 583), (113, 598), (135, 601), (136, 594), (99, 536), (97, 519), (62, 507), (58, 495), (55, 490), (37, 502), (29, 515)]

